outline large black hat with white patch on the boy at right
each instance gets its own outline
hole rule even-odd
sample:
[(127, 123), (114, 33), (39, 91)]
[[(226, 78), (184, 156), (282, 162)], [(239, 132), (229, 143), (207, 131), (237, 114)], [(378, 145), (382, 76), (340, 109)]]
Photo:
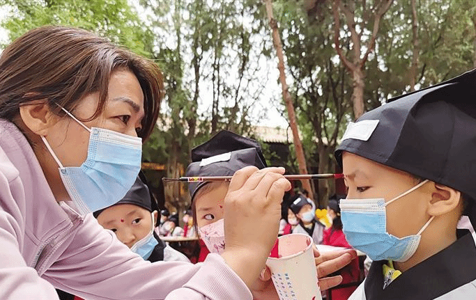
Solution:
[(340, 165), (343, 151), (461, 191), (476, 224), (476, 69), (364, 113), (335, 152)]

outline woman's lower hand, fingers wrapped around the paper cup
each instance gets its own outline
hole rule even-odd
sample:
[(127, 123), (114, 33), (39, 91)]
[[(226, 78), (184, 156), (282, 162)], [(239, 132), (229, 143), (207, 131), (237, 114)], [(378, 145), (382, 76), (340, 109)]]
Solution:
[[(320, 254), (316, 246), (314, 250), (314, 261), (318, 274), (318, 283), (321, 291), (328, 290), (330, 287), (339, 285), (342, 281), (342, 276), (325, 277), (335, 271), (348, 265), (354, 258), (357, 257), (355, 250), (332, 251)], [(255, 300), (279, 300), (275, 285), (271, 281), (271, 271), (266, 267), (261, 273), (258, 280), (252, 285), (253, 299)]]

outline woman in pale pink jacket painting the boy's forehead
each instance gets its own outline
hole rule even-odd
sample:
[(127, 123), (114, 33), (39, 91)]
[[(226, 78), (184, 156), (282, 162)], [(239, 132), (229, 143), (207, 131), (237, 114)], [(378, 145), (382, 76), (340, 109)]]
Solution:
[[(88, 214), (132, 186), (162, 91), (155, 64), (80, 29), (33, 29), (3, 50), (0, 299), (56, 299), (54, 287), (84, 299), (252, 299), (277, 236), (262, 230), (290, 188), (281, 168), (236, 173), (233, 246), (202, 265), (146, 262)], [(242, 233), (247, 218), (259, 235)]]

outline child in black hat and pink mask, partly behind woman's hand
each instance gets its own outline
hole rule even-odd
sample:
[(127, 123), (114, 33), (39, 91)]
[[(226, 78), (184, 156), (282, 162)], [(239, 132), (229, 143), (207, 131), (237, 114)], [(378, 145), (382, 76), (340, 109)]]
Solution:
[[(192, 150), (189, 177), (229, 176), (245, 166), (265, 168), (266, 161), (258, 142), (233, 132), (222, 131)], [(224, 250), (223, 200), (229, 182), (191, 182), (194, 224), (208, 251)]]

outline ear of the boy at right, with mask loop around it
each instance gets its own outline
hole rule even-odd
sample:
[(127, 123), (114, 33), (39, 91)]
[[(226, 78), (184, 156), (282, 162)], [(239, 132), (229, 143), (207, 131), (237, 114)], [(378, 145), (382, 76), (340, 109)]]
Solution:
[(428, 207), (428, 213), (431, 216), (441, 216), (458, 207), (461, 198), (460, 191), (437, 183), (433, 183), (431, 189), (431, 200)]

